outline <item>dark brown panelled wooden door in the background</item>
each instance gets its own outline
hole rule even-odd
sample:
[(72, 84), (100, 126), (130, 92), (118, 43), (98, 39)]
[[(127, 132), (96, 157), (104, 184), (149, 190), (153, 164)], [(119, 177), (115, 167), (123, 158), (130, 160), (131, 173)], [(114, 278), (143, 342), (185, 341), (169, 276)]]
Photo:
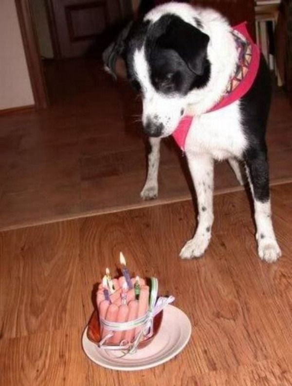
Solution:
[(86, 54), (94, 44), (102, 51), (110, 30), (130, 17), (131, 0), (49, 0), (61, 58)]

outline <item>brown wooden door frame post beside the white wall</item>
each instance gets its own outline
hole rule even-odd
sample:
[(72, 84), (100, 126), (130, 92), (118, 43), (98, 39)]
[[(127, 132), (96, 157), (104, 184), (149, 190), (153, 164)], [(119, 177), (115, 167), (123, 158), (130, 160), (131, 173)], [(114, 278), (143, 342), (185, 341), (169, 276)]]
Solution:
[(15, 0), (24, 53), (37, 110), (49, 105), (47, 87), (41, 64), (37, 36), (29, 0)]

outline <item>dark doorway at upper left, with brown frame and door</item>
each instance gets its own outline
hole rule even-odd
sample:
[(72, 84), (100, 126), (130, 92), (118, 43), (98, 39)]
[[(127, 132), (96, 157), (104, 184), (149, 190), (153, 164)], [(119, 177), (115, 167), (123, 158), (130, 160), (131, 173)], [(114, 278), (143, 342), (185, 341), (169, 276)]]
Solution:
[(102, 66), (103, 50), (133, 13), (131, 0), (16, 4), (37, 109), (89, 90), (91, 69)]

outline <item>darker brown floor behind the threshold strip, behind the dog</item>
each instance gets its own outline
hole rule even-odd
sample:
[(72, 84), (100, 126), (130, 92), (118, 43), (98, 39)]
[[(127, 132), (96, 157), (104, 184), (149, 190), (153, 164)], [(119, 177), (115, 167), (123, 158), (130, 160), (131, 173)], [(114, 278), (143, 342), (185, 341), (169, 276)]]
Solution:
[[(140, 111), (131, 89), (114, 83), (96, 61), (45, 67), (52, 106), (0, 117), (0, 229), (149, 205)], [(292, 181), (292, 109), (275, 92), (268, 129), (271, 182)], [(151, 204), (190, 198), (185, 158), (164, 142), (160, 194)], [(226, 163), (216, 192), (240, 187)]]

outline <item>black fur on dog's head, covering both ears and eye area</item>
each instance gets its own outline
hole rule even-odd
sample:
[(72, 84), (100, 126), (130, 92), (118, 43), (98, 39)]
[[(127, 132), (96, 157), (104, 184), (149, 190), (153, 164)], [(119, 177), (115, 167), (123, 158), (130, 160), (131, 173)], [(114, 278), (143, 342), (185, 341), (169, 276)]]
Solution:
[(146, 60), (151, 69), (151, 81), (157, 91), (165, 95), (186, 95), (192, 89), (200, 88), (208, 82), (209, 37), (172, 14), (164, 15), (153, 24), (142, 22), (131, 29), (126, 52), (128, 77), (131, 82), (137, 82), (132, 68), (133, 54), (144, 42)]

